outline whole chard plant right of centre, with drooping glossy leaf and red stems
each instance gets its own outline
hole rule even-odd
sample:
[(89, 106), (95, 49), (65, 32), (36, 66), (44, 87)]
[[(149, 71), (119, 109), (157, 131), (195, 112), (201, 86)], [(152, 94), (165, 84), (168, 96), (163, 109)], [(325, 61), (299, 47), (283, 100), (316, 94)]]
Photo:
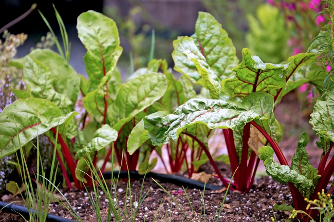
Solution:
[(322, 85), (325, 76), (316, 72), (319, 67), (314, 65), (319, 55), (310, 51), (291, 56), (282, 64), (271, 64), (245, 48), (238, 64), (226, 31), (213, 16), (200, 12), (195, 34), (178, 37), (172, 56), (174, 69), (209, 91), (210, 98), (190, 99), (170, 115), (145, 117), (144, 127), (152, 144), (162, 146), (184, 135), (193, 138), (227, 187), (229, 179), (214, 163), (208, 138), (189, 132), (194, 126), (222, 129), (231, 170), (238, 168), (232, 189), (249, 191), (260, 160), (258, 148), (270, 145), (280, 163), (288, 165), (278, 146), (284, 128), (273, 111), (287, 93), (302, 84)]

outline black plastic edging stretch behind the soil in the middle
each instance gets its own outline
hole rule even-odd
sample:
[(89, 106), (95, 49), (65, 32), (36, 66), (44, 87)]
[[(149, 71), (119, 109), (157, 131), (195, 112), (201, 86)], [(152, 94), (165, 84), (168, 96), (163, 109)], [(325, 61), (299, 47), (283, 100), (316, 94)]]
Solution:
[[(118, 177), (119, 173), (119, 178), (128, 178), (130, 176), (131, 179), (141, 179), (144, 177), (144, 175), (141, 175), (138, 173), (138, 171), (114, 171), (113, 176), (114, 178)], [(105, 179), (112, 179), (112, 172), (104, 172), (103, 177)], [(195, 189), (200, 189), (203, 190), (204, 186), (206, 190), (220, 190), (222, 187), (212, 185), (212, 184), (205, 184), (200, 181), (194, 180), (194, 179), (189, 179), (185, 178), (182, 176), (177, 176), (177, 175), (170, 175), (170, 174), (162, 174), (162, 173), (147, 173), (145, 177), (152, 177), (154, 179), (159, 179), (161, 182), (167, 182), (171, 184), (175, 184), (178, 186), (183, 186), (183, 187), (189, 187), (189, 188), (195, 188)]]

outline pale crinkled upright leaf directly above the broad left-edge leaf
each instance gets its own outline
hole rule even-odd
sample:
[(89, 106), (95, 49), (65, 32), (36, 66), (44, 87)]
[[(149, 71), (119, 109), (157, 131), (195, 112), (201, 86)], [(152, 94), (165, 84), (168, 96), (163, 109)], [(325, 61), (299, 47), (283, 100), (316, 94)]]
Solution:
[(69, 97), (55, 91), (51, 73), (41, 62), (26, 56), (23, 73), (23, 80), (33, 97), (50, 100), (62, 110), (62, 113), (74, 110), (74, 105)]

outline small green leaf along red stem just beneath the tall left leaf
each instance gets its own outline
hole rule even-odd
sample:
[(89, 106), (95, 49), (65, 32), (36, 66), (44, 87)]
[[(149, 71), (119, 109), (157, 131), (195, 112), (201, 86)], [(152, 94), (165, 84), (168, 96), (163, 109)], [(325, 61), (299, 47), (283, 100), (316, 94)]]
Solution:
[[(106, 107), (112, 103), (112, 100), (107, 98), (105, 101), (106, 86), (105, 84), (110, 79), (110, 75), (104, 76), (100, 85), (83, 98), (83, 105), (86, 111), (94, 117), (99, 123), (103, 123), (106, 115)], [(105, 105), (107, 104), (107, 106)]]

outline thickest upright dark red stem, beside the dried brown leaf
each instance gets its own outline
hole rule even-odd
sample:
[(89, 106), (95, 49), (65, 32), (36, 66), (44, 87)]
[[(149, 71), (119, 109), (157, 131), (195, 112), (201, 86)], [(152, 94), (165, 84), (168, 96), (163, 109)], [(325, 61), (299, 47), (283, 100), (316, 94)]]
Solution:
[(243, 192), (247, 190), (247, 185), (248, 185), (247, 179), (249, 178), (248, 173), (251, 172), (249, 168), (247, 169), (249, 134), (250, 134), (250, 123), (247, 123), (243, 130), (243, 150), (241, 154), (240, 171), (239, 171), (239, 172), (246, 172), (246, 175), (240, 176), (240, 180), (235, 181), (235, 183), (238, 184), (239, 191)]

